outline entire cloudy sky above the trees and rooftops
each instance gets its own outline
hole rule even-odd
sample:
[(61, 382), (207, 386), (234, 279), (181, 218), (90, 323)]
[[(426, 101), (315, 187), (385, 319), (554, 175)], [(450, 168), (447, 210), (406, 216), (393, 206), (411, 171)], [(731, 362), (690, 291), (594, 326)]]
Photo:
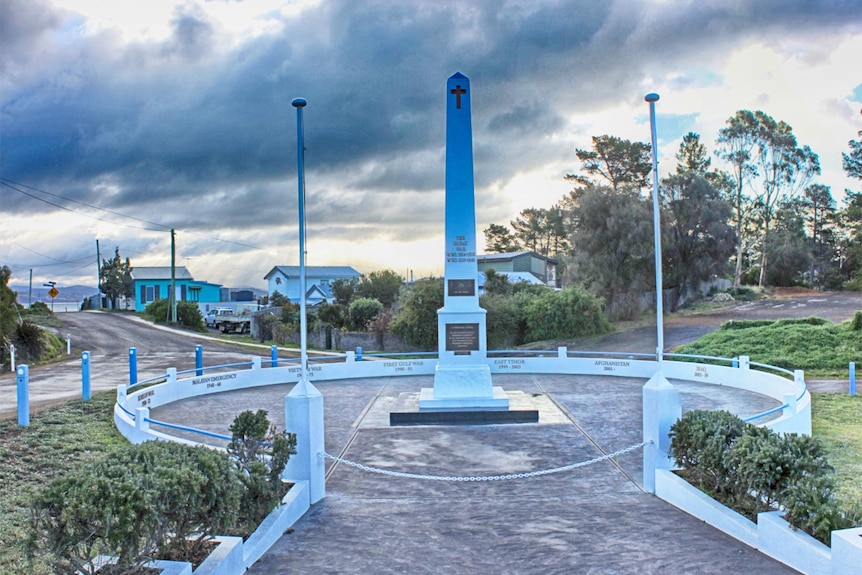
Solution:
[[(836, 198), (862, 129), (862, 1), (0, 0), (0, 264), (13, 284), (133, 266), (263, 287), (296, 265), (442, 274), (446, 79), (472, 85), (480, 251), (548, 208), (575, 148), (682, 136), (737, 110), (789, 123)], [(14, 183), (12, 183), (14, 182)], [(12, 187), (9, 187), (12, 186)]]

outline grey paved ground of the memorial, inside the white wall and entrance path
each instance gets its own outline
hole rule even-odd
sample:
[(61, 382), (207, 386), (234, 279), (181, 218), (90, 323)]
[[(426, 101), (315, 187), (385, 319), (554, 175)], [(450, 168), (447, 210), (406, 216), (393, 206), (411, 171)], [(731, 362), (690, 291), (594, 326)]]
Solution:
[[(672, 383), (684, 411), (748, 416), (777, 405), (729, 388)], [(448, 427), (388, 426), (387, 407), (432, 387), (431, 376), (316, 385), (328, 453), (395, 471), (489, 476), (565, 466), (640, 443), (643, 384), (495, 376), (494, 385), (541, 406), (539, 423)], [(238, 413), (266, 409), (282, 429), (291, 387), (189, 399), (151, 417), (229, 434)], [(641, 449), (562, 473), (482, 482), (399, 478), (329, 460), (326, 498), (248, 573), (795, 573), (644, 493), (641, 469)]]

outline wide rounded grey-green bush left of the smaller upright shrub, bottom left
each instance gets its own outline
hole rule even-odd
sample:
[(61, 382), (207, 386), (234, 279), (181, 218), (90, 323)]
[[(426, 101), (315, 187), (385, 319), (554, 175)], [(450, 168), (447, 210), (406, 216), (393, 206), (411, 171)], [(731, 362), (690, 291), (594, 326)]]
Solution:
[(188, 560), (234, 527), (242, 483), (224, 453), (170, 442), (128, 446), (55, 479), (34, 500), (30, 557), (92, 573), (99, 554), (130, 572), (154, 557)]

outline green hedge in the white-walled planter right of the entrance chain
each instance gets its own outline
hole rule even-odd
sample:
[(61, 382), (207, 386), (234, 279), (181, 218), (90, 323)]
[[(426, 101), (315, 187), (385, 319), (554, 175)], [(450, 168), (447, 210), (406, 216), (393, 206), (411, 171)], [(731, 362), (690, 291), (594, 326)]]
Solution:
[(754, 521), (781, 510), (792, 526), (830, 545), (832, 531), (862, 519), (858, 509), (839, 508), (834, 470), (813, 437), (701, 410), (686, 413), (670, 435), (670, 455), (686, 480)]

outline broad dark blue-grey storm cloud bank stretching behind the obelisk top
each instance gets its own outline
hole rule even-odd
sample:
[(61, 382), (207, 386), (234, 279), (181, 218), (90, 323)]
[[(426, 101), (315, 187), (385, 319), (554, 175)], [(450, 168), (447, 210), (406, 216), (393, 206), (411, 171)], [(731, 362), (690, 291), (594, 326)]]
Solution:
[[(487, 185), (571, 155), (545, 136), (573, 110), (641, 99), (664, 58), (709, 59), (734, 39), (780, 42), (788, 27), (818, 34), (862, 17), (862, 5), (837, 1), (323, 2), (228, 50), (191, 8), (161, 42), (108, 31), (68, 45), (44, 41), (66, 15), (20, 0), (0, 10), (0, 79), (14, 80), (0, 103), (4, 177), (166, 226), (274, 223), (283, 215), (261, 207), (295, 178), (290, 101), (304, 96), (309, 178), (332, 199), (317, 209), (331, 208), (336, 227), (397, 215), (408, 231), (439, 206), (423, 194), (442, 188), (443, 86), (456, 70), (473, 82), (476, 181)], [(18, 213), (45, 209), (2, 194)], [(421, 211), (405, 215), (405, 203)]]

